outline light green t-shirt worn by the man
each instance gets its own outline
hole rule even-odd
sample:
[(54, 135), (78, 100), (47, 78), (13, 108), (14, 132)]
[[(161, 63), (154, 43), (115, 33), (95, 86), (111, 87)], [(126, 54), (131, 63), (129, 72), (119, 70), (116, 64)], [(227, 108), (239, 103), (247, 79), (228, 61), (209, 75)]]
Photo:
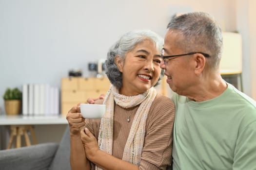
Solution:
[(256, 170), (256, 102), (228, 84), (194, 102), (174, 93), (173, 170)]

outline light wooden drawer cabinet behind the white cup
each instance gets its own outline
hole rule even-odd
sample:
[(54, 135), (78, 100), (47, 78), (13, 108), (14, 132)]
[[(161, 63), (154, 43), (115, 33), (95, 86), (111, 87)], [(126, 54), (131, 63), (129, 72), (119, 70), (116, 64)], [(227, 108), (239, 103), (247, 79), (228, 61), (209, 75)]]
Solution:
[(67, 112), (78, 103), (84, 103), (88, 98), (97, 98), (106, 94), (110, 82), (107, 77), (84, 78), (70, 77), (61, 79), (61, 114)]

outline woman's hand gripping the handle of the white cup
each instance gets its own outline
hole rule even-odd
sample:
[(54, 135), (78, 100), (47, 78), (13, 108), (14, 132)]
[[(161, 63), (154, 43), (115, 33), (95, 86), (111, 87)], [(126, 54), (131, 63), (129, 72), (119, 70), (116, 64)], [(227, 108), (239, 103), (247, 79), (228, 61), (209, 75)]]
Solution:
[(66, 116), (69, 124), (70, 135), (80, 135), (80, 130), (84, 128), (84, 118), (80, 113), (80, 107), (72, 107)]

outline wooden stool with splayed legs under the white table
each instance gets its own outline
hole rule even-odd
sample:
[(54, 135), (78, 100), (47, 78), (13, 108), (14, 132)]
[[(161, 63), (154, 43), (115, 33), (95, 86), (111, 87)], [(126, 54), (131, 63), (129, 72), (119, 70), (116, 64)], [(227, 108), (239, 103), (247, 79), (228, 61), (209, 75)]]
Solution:
[(10, 149), (12, 147), (12, 143), (13, 143), (15, 137), (16, 137), (16, 148), (20, 148), (21, 147), (21, 136), (24, 136), (26, 146), (30, 146), (31, 142), (30, 142), (30, 138), (27, 133), (28, 131), (30, 131), (30, 134), (31, 134), (34, 144), (37, 144), (38, 141), (37, 141), (36, 134), (34, 132), (32, 125), (11, 125), (11, 136), (10, 136), (10, 140), (8, 142), (7, 149)]

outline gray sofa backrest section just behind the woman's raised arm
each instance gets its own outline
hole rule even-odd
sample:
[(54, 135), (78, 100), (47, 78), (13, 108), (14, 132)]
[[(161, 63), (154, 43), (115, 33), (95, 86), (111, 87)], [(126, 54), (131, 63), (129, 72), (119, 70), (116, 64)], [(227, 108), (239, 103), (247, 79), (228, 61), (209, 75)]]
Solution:
[(70, 168), (70, 134), (67, 126), (59, 143), (59, 149), (55, 154), (49, 170), (71, 170)]

